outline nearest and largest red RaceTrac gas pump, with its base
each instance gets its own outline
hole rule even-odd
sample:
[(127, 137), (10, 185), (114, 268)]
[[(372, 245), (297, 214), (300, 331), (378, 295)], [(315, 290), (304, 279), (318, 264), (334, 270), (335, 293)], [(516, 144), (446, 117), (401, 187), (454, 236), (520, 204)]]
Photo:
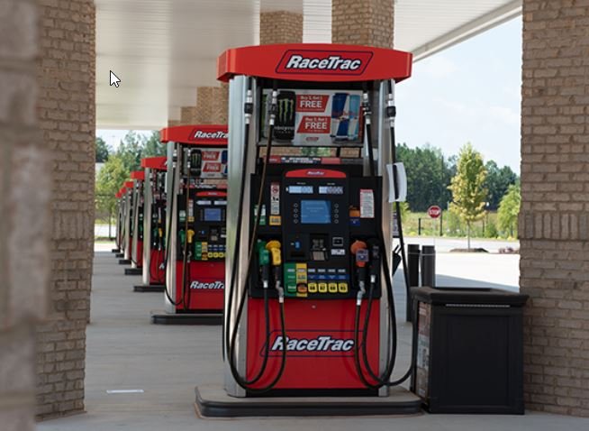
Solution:
[[(398, 386), (410, 371), (391, 381), (392, 209), (405, 189), (394, 85), (411, 64), (402, 51), (330, 44), (219, 58), (230, 85), (224, 389), (243, 399), (198, 388), (205, 416), (419, 410)], [(349, 399), (338, 409), (327, 396)]]

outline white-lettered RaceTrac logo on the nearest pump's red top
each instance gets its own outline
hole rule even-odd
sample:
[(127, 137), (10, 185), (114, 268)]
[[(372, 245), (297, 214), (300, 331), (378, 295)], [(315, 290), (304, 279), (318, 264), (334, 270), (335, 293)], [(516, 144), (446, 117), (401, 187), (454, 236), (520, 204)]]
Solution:
[(370, 51), (287, 50), (276, 73), (362, 75), (371, 59)]

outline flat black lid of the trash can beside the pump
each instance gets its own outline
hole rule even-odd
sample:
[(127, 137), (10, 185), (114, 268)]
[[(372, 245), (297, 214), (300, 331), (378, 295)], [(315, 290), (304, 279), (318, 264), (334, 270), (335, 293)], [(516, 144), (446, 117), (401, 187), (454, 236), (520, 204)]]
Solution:
[(508, 305), (523, 307), (528, 295), (503, 289), (412, 288), (412, 297), (428, 304)]

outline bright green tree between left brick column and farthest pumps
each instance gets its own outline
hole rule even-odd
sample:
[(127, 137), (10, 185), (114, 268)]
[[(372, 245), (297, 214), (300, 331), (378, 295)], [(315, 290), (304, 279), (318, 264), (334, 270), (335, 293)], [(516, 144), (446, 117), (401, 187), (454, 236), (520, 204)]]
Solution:
[(98, 172), (96, 178), (96, 209), (100, 212), (113, 215), (116, 206), (114, 195), (122, 187), (122, 183), (129, 179), (128, 170), (122, 158), (113, 154), (104, 163), (103, 169)]

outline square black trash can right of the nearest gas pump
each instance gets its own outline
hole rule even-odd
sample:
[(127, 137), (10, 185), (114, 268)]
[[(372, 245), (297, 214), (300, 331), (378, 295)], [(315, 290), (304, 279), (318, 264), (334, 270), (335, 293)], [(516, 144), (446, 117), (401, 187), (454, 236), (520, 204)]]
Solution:
[(430, 413), (522, 415), (527, 295), (500, 289), (412, 289), (412, 391)]

